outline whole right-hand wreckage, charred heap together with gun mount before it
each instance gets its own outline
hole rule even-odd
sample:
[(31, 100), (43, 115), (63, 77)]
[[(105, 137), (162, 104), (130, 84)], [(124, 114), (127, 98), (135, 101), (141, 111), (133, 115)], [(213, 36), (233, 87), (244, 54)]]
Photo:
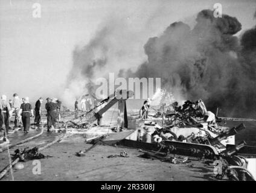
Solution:
[[(246, 147), (246, 142), (234, 145), (233, 141), (233, 145), (228, 145), (229, 141), (226, 140), (234, 140), (234, 135), (245, 129), (244, 124), (232, 128), (223, 127), (222, 120), (207, 111), (202, 100), (185, 101), (182, 106), (174, 102), (166, 111), (156, 113), (155, 117), (162, 117), (162, 127), (153, 121), (145, 122), (144, 134), (139, 133), (142, 142), (158, 144), (161, 151), (167, 154), (217, 160), (213, 163), (221, 171), (216, 175), (218, 179), (254, 180), (248, 170), (246, 157), (238, 153)], [(256, 148), (253, 148), (251, 156), (256, 155)]]

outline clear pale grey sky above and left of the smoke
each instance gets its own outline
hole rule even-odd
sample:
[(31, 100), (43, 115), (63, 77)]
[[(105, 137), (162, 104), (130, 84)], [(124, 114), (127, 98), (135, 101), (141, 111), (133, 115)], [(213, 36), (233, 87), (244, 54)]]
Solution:
[[(217, 2), (241, 22), (237, 36), (255, 25), (256, 0), (0, 0), (0, 95), (61, 97), (75, 47), (116, 20), (123, 23), (116, 33), (132, 42), (125, 48), (127, 67), (136, 69), (147, 60), (143, 46), (150, 37), (172, 22), (193, 26), (196, 14)], [(40, 18), (33, 17), (35, 3)]]

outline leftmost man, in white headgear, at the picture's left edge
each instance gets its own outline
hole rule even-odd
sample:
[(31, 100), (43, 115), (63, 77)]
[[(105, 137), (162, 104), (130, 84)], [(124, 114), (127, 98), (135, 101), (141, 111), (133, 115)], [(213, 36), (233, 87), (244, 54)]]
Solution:
[(2, 125), (5, 125), (4, 137), (8, 134), (9, 130), (9, 118), (11, 118), (11, 107), (7, 101), (7, 97), (5, 95), (1, 96), (0, 101), (0, 129), (2, 130)]

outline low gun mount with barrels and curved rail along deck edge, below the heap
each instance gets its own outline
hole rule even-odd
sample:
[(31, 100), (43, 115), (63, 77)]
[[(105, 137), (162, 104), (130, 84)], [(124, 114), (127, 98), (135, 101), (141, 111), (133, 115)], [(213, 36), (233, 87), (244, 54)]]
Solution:
[[(184, 137), (177, 136), (177, 133), (173, 130), (159, 127), (156, 124), (155, 131), (150, 127), (144, 127), (146, 133), (142, 135), (141, 141), (158, 144), (160, 149), (153, 154), (153, 157), (157, 157), (160, 160), (169, 160), (168, 157), (172, 157), (170, 154), (199, 157), (199, 160), (210, 159), (214, 169), (219, 169), (215, 173), (217, 179), (254, 181), (254, 176), (248, 170), (248, 160), (238, 154), (239, 150), (246, 146), (246, 142), (242, 141), (240, 144), (231, 147), (222, 144), (223, 139), (236, 134), (238, 130), (244, 128), (245, 125), (240, 124), (238, 127), (220, 133), (215, 138), (213, 134), (208, 132), (203, 133), (201, 136), (193, 133)], [(187, 128), (184, 127), (183, 129), (186, 130)], [(150, 134), (151, 137), (149, 137)], [(164, 154), (160, 152), (164, 152)]]

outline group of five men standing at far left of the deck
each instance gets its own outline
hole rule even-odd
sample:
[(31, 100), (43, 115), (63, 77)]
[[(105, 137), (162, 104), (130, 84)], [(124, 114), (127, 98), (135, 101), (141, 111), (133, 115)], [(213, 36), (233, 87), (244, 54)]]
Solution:
[[(51, 128), (56, 127), (56, 122), (60, 121), (60, 107), (61, 101), (57, 98), (47, 98), (45, 109), (47, 110), (47, 128), (50, 131)], [(9, 131), (9, 119), (14, 114), (14, 129), (21, 127), (21, 122), (24, 127), (24, 133), (28, 133), (30, 129), (30, 118), (34, 117), (34, 125), (40, 127), (41, 121), (41, 109), (43, 98), (40, 97), (36, 101), (35, 108), (31, 106), (29, 98), (25, 97), (22, 100), (17, 93), (14, 93), (13, 100), (7, 100), (6, 95), (1, 96), (0, 100), (0, 130), (4, 130), (4, 139)], [(34, 116), (35, 115), (35, 116)], [(5, 127), (3, 127), (3, 125)]]

